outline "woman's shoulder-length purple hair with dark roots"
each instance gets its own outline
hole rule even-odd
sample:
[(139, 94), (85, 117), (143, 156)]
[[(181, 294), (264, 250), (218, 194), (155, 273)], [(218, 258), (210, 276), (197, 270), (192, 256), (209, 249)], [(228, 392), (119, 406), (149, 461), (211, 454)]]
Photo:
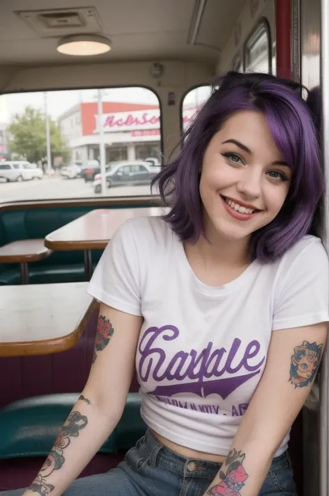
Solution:
[(269, 74), (228, 72), (214, 82), (212, 95), (183, 135), (178, 157), (152, 181), (164, 204), (171, 206), (163, 219), (180, 240), (196, 242), (205, 235), (199, 193), (203, 154), (212, 136), (238, 110), (265, 115), (276, 146), (292, 167), (292, 182), (280, 212), (251, 236), (251, 258), (273, 261), (303, 235), (319, 235), (314, 213), (324, 192), (324, 176), (319, 136), (303, 90), (294, 81)]

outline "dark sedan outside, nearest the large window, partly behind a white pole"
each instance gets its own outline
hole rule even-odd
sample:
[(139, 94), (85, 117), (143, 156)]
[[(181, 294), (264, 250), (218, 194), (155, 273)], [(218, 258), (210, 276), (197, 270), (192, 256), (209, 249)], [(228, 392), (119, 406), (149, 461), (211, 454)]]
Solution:
[[(148, 162), (117, 162), (110, 166), (106, 172), (106, 185), (108, 188), (118, 185), (150, 184), (153, 177), (160, 172), (160, 167), (150, 165)], [(101, 192), (101, 174), (96, 174), (92, 184), (95, 193)]]

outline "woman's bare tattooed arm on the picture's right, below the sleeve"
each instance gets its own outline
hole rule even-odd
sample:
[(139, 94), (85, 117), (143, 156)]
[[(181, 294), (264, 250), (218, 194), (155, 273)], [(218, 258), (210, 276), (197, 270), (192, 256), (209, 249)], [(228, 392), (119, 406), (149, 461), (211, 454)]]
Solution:
[(267, 365), (226, 462), (205, 493), (257, 496), (301, 410), (326, 345), (328, 322), (273, 331)]

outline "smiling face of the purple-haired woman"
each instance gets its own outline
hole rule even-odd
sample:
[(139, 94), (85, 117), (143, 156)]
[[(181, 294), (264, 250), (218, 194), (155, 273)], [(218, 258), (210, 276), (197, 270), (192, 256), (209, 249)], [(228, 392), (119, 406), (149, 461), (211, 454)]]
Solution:
[(291, 175), (262, 113), (229, 117), (203, 156), (199, 188), (208, 238), (248, 241), (278, 215)]

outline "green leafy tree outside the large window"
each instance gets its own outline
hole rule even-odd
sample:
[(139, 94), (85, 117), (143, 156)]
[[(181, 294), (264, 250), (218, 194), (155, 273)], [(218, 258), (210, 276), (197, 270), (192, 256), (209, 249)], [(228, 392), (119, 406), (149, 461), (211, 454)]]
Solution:
[[(67, 144), (60, 133), (60, 126), (49, 117), (51, 157), (67, 155)], [(8, 126), (11, 153), (37, 162), (47, 156), (46, 119), (40, 110), (27, 106), (22, 114), (15, 114)]]

